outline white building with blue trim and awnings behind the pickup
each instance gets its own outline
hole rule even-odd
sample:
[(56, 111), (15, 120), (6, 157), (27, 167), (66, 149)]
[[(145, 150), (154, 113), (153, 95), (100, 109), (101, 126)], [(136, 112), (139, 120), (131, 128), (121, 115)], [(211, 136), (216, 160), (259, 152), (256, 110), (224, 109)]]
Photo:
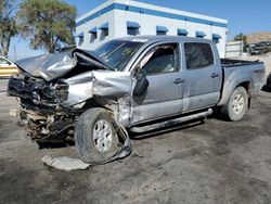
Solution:
[(182, 35), (212, 39), (224, 58), (228, 21), (132, 0), (109, 0), (76, 20), (77, 47), (93, 50), (129, 35)]

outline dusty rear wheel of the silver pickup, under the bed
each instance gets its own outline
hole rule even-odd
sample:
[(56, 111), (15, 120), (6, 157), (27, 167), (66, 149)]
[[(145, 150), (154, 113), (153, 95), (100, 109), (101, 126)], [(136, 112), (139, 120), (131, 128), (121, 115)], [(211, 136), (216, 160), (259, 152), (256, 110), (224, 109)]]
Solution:
[[(242, 98), (244, 99), (242, 100), (242, 102), (240, 102), (240, 104), (243, 103), (242, 109), (237, 109), (236, 105), (234, 105), (234, 102), (238, 99), (240, 95), (242, 95)], [(222, 113), (224, 113), (225, 116), (231, 122), (237, 122), (244, 117), (247, 107), (248, 107), (248, 94), (246, 89), (244, 87), (236, 87), (232, 92), (228, 103), (222, 107)]]

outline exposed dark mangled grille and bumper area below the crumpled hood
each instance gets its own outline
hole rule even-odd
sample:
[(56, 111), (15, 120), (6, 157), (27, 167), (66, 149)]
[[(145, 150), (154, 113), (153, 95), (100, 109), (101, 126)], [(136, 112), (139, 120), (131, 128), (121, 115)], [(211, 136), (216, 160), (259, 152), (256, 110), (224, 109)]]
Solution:
[(67, 98), (68, 86), (47, 82), (24, 75), (13, 76), (8, 94), (21, 99), (20, 119), (28, 136), (36, 141), (69, 140), (80, 111), (60, 106)]

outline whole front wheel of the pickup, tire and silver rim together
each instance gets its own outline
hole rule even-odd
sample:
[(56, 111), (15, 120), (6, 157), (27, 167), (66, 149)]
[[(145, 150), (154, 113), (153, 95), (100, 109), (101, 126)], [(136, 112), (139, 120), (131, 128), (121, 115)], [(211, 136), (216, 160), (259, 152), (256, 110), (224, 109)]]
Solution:
[(113, 116), (104, 109), (91, 109), (77, 122), (75, 143), (80, 158), (90, 164), (101, 164), (118, 151), (118, 136)]

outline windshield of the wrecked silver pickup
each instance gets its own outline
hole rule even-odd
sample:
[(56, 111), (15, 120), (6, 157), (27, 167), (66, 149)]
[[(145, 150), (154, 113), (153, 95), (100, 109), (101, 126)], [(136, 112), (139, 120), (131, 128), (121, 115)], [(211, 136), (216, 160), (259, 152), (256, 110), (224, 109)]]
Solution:
[(124, 71), (126, 64), (142, 44), (142, 42), (112, 40), (99, 47), (95, 52), (109, 67)]

